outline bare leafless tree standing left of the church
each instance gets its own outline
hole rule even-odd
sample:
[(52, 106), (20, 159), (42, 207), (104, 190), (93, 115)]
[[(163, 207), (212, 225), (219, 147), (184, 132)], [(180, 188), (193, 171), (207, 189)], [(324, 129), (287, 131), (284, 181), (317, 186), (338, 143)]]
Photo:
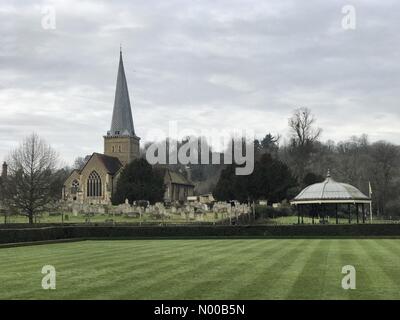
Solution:
[(34, 217), (57, 196), (53, 178), (58, 156), (44, 140), (32, 134), (11, 152), (8, 162), (7, 203), (32, 224)]

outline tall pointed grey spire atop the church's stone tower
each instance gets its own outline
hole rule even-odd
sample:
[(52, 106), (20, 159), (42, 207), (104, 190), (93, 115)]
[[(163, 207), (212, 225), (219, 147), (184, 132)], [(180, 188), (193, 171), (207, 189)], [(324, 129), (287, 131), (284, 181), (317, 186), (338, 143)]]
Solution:
[(128, 85), (126, 83), (122, 52), (119, 55), (117, 87), (115, 90), (114, 110), (109, 136), (135, 136), (133, 127), (131, 102), (129, 100)]

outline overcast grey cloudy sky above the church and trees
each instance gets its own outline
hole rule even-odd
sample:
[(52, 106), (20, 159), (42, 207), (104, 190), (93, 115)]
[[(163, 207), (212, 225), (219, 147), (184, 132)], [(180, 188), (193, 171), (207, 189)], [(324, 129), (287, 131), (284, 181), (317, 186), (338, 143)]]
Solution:
[(142, 140), (169, 120), (285, 137), (306, 106), (323, 140), (400, 143), (399, 24), (396, 0), (2, 0), (0, 161), (32, 132), (67, 164), (102, 152), (120, 43)]

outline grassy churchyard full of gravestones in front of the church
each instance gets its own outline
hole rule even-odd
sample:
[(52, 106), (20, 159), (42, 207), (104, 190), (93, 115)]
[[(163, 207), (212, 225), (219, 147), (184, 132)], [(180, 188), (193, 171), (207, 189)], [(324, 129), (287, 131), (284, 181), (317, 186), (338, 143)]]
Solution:
[[(17, 213), (5, 215), (5, 224), (25, 223), (27, 218)], [(120, 205), (89, 204), (60, 201), (48, 212), (35, 217), (36, 224), (232, 224), (234, 220), (252, 214), (252, 206), (236, 202), (204, 203), (198, 200), (185, 203), (150, 204), (148, 201), (128, 200)]]

